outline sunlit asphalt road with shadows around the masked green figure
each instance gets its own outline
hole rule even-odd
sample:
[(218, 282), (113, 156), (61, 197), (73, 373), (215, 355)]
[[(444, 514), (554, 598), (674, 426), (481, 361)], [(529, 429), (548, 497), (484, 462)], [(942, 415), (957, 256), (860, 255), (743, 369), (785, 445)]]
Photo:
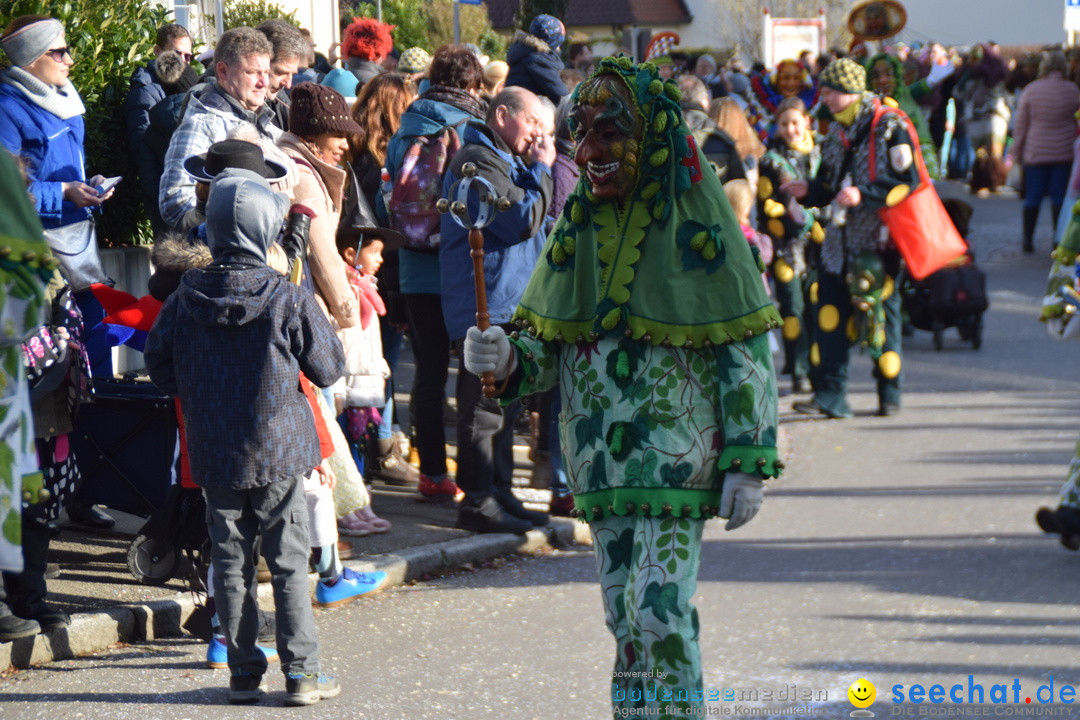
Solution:
[[(851, 420), (795, 418), (782, 397), (787, 473), (745, 528), (710, 524), (696, 596), (705, 685), (735, 695), (712, 715), (846, 718), (860, 678), (877, 688), (876, 717), (1074, 715), (1062, 691), (1080, 685), (1080, 554), (1032, 514), (1053, 504), (1077, 440), (1080, 345), (1034, 320), (1045, 218), (1040, 253), (1024, 256), (1018, 202), (972, 202), (991, 287), (983, 349), (955, 330), (942, 352), (928, 332), (910, 338), (896, 417), (874, 417), (865, 357)], [(325, 665), (346, 690), (314, 709), (282, 708), (276, 676), (261, 705), (225, 705), (225, 671), (171, 640), (12, 674), (0, 717), (598, 720), (613, 644), (594, 575), (588, 548), (555, 552), (319, 611)], [(982, 688), (984, 702), (915, 704), (916, 684), (964, 701)]]

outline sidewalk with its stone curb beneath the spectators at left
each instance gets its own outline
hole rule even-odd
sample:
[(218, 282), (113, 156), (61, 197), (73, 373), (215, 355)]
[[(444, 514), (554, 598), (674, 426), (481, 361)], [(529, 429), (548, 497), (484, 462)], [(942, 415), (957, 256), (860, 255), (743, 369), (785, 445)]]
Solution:
[[(514, 553), (537, 553), (575, 543), (588, 543), (586, 526), (552, 518), (546, 528), (525, 535), (478, 535), (454, 528), (454, 505), (421, 503), (406, 488), (376, 484), (373, 500), (381, 517), (393, 522), (384, 534), (343, 538), (355, 548), (345, 565), (357, 571), (382, 570), (388, 583), (402, 585), (472, 567)], [(546, 491), (523, 488), (519, 494), (537, 510), (546, 510)], [(117, 526), (109, 531), (63, 525), (50, 545), (50, 561), (60, 575), (49, 581), (49, 599), (71, 613), (70, 627), (49, 635), (0, 643), (0, 669), (27, 667), (105, 650), (116, 643), (137, 642), (184, 634), (181, 625), (194, 609), (195, 597), (181, 580), (162, 586), (140, 585), (127, 570), (127, 548), (143, 519), (110, 511)], [(310, 575), (312, 593), (316, 575)], [(269, 583), (259, 585), (259, 598), (269, 600)]]

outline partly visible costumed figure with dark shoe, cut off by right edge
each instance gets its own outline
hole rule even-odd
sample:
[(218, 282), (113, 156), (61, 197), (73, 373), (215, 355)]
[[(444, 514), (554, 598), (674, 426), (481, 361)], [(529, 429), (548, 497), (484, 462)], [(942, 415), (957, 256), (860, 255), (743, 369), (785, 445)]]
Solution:
[[(1054, 249), (1047, 295), (1039, 320), (1051, 336), (1063, 340), (1080, 339), (1080, 201), (1072, 206), (1069, 223)], [(1065, 484), (1057, 497), (1057, 507), (1040, 507), (1035, 520), (1044, 532), (1059, 535), (1062, 545), (1080, 549), (1080, 440), (1069, 463)]]

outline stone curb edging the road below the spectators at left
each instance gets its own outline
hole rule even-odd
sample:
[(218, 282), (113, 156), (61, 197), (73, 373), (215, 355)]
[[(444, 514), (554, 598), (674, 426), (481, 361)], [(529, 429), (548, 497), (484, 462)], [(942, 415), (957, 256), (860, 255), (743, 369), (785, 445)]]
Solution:
[[(403, 585), (471, 562), (573, 544), (591, 544), (589, 527), (552, 518), (549, 527), (530, 530), (524, 535), (477, 534), (372, 555), (346, 565), (359, 572), (381, 570), (387, 573), (388, 585)], [(314, 592), (318, 575), (311, 573), (309, 581)], [(272, 592), (269, 583), (259, 585), (260, 598), (269, 597)], [(178, 593), (167, 600), (118, 606), (103, 612), (76, 613), (71, 616), (71, 625), (66, 628), (0, 643), (0, 668), (25, 668), (67, 660), (106, 650), (118, 642), (180, 637), (184, 635), (181, 626), (194, 608), (194, 598), (190, 593)]]

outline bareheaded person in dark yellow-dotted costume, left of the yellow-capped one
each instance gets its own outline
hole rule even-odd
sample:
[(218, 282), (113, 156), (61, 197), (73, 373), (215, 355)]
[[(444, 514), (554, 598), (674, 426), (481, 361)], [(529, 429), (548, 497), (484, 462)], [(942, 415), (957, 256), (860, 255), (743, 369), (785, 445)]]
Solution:
[(818, 255), (825, 232), (818, 208), (802, 207), (781, 186), (810, 180), (821, 162), (820, 138), (811, 130), (807, 106), (788, 97), (777, 108), (777, 132), (761, 158), (757, 184), (759, 229), (772, 239), (772, 280), (783, 317), (784, 367), (792, 392), (810, 390), (810, 327), (806, 297), (816, 276)]

